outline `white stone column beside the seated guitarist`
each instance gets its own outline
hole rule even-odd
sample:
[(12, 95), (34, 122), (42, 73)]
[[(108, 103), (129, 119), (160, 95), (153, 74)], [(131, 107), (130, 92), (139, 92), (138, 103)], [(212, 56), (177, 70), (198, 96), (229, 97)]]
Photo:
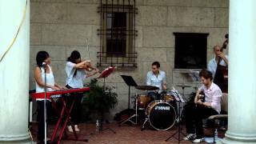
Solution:
[(230, 0), (228, 130), (220, 143), (256, 143), (255, 6)]

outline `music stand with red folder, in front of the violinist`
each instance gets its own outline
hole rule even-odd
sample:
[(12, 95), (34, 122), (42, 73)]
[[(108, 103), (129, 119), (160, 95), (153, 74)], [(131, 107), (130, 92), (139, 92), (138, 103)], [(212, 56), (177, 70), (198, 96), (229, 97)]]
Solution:
[[(103, 78), (103, 90), (105, 90), (105, 86), (106, 86), (106, 83), (105, 83), (105, 79), (114, 72), (114, 70), (116, 69), (117, 67), (112, 67), (112, 66), (109, 66), (108, 68), (106, 68), (105, 70), (102, 71), (102, 74), (100, 74), (98, 76), (98, 78)], [(103, 112), (101, 112), (101, 120), (100, 120), (100, 129), (98, 130), (98, 132), (100, 133), (101, 130), (103, 130), (103, 126), (102, 126), (102, 122), (103, 121)], [(110, 129), (110, 127), (107, 127), (106, 129), (104, 130), (110, 130), (112, 131), (114, 134), (116, 133), (114, 130)]]

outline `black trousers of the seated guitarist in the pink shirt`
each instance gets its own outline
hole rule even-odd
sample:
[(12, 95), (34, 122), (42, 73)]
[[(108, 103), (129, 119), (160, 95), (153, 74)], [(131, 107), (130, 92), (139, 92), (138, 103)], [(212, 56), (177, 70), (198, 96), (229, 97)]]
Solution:
[(186, 122), (186, 133), (197, 134), (197, 138), (204, 138), (202, 129), (202, 119), (208, 118), (210, 115), (218, 114), (212, 108), (205, 106), (195, 106), (195, 104), (187, 104), (184, 107), (184, 116)]

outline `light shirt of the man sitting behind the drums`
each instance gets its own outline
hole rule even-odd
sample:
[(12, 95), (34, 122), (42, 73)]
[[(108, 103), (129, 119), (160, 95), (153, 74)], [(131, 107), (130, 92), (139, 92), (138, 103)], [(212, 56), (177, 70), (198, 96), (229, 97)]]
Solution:
[(158, 76), (156, 76), (152, 71), (146, 74), (146, 85), (156, 86), (159, 90), (162, 90), (162, 85), (166, 83), (166, 73), (159, 70)]

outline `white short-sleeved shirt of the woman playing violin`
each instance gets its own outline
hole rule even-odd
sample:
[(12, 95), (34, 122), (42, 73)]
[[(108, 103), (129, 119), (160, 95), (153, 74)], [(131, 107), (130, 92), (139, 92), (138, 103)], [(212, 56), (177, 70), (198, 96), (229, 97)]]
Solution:
[[(75, 69), (75, 65), (73, 62), (66, 62), (66, 85), (72, 88), (82, 88), (83, 81), (86, 79), (86, 72), (85, 70)], [(74, 75), (75, 70), (77, 70), (77, 74)]]

